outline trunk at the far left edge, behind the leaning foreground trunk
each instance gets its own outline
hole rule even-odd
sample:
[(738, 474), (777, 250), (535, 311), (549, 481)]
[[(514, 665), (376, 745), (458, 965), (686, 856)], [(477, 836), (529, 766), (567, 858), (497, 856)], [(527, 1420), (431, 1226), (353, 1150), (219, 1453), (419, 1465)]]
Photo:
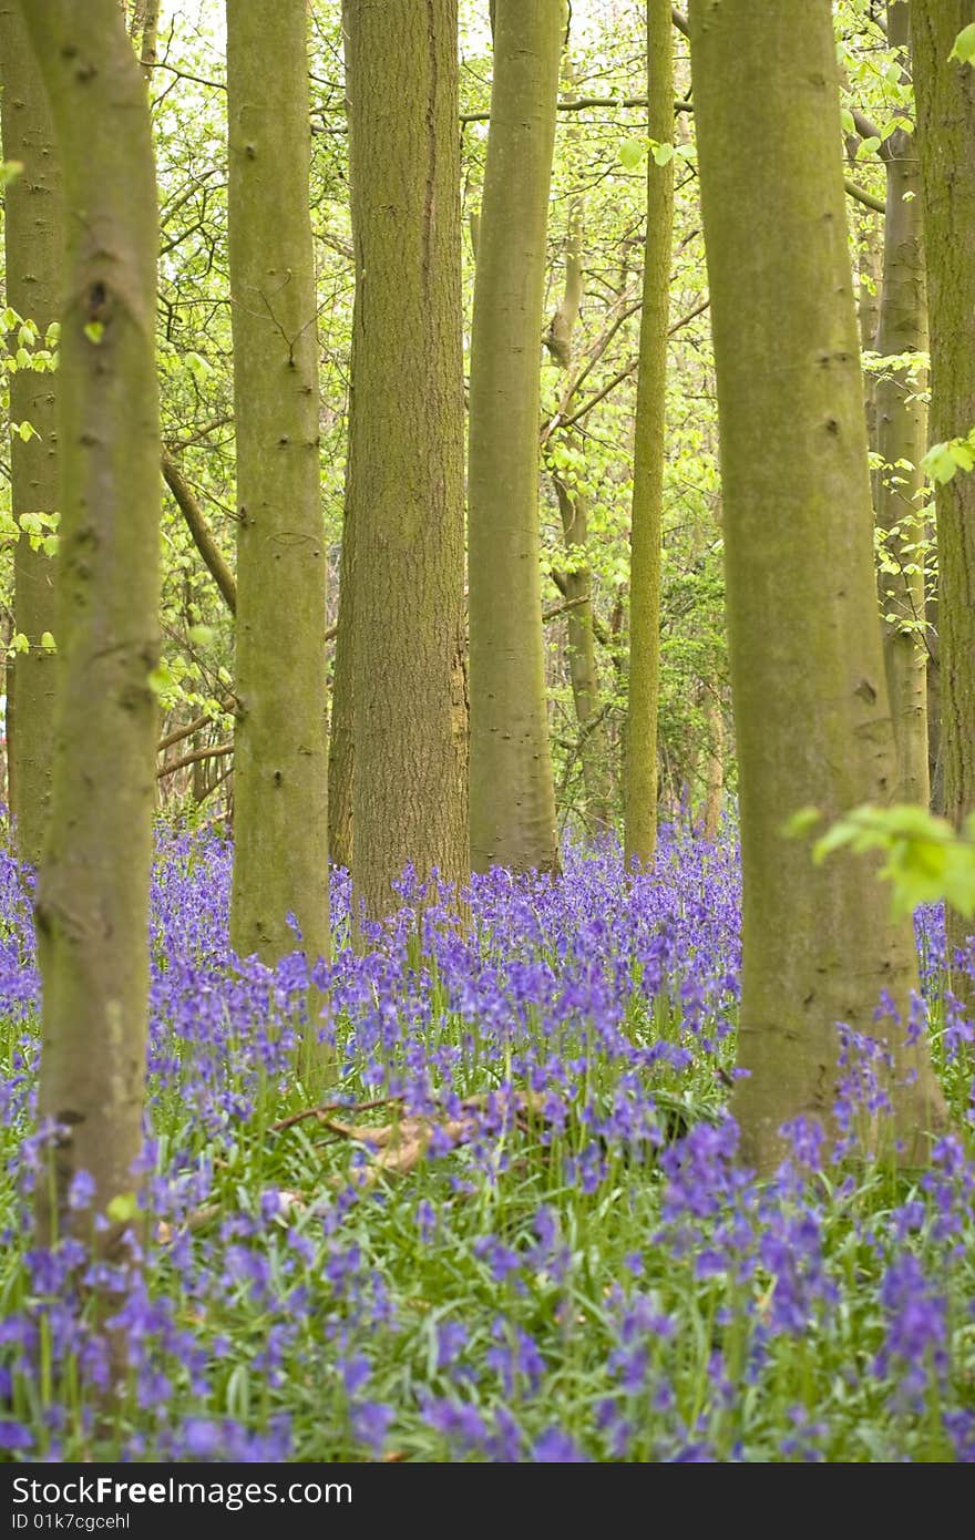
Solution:
[[(3, 156), (23, 165), (6, 189), (6, 302), (37, 325), (43, 346), (62, 302), (62, 174), (45, 85), (20, 11), (9, 3), (0, 5), (0, 68)], [(11, 420), (29, 422), (35, 431), (26, 442), (11, 434), (11, 511), (17, 522), (25, 513), (52, 514), (59, 507), (55, 383), (55, 373), (29, 368), (11, 377)], [(29, 650), (8, 665), (8, 695), (17, 695), (8, 733), (9, 801), (20, 859), (37, 865), (51, 805), (57, 665), (40, 639), (54, 631), (54, 562), (43, 548), (32, 550), (26, 533), (14, 547), (14, 630), (26, 636)]]

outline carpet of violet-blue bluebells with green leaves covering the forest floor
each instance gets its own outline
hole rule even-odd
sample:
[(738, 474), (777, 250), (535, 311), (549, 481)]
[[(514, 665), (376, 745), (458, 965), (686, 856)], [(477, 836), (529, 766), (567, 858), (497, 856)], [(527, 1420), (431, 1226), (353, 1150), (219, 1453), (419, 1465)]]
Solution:
[[(926, 1030), (955, 1132), (921, 1175), (866, 1158), (852, 1103), (880, 1049), (839, 1029), (843, 1147), (798, 1124), (756, 1183), (725, 1110), (732, 838), (670, 830), (645, 876), (616, 849), (568, 850), (556, 882), (498, 870), (465, 929), (405, 881), (364, 955), (336, 873), (333, 1089), (296, 1070), (300, 955), (230, 952), (230, 862), (159, 836), (142, 1212), (108, 1267), (31, 1237), (39, 979), (0, 853), (3, 1458), (975, 1460), (972, 1030), (935, 910)], [(396, 1127), (424, 1158), (377, 1158)], [(106, 1297), (128, 1343), (108, 1401)]]

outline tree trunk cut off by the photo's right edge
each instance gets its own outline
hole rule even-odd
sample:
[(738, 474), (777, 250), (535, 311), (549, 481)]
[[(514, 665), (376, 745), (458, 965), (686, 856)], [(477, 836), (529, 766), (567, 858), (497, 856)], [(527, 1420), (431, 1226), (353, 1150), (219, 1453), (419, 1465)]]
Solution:
[[(975, 22), (975, 0), (910, 6), (921, 196), (927, 236), (932, 430), (935, 440), (975, 427), (975, 69), (949, 59)], [(944, 815), (975, 812), (975, 474), (935, 488), (938, 651)], [(972, 930), (949, 910), (949, 964)], [(975, 1006), (975, 984), (957, 969), (952, 987)]]

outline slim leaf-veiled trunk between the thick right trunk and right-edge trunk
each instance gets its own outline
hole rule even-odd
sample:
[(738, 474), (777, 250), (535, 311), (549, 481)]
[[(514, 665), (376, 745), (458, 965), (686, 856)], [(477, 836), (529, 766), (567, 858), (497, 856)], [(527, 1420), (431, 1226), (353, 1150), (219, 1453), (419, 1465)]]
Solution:
[[(887, 6), (887, 42), (907, 69), (909, 8)], [(887, 168), (884, 279), (876, 351), (883, 357), (927, 353), (924, 294), (924, 223), (915, 136), (898, 128), (881, 148)], [(912, 391), (906, 368), (887, 368), (876, 382), (876, 524), (884, 531), (886, 562), (880, 578), (884, 610), (884, 664), (898, 750), (896, 798), (930, 801), (927, 767), (927, 648), (924, 638), (924, 556), (918, 494), (924, 490), (921, 456), (927, 448), (927, 408)]]

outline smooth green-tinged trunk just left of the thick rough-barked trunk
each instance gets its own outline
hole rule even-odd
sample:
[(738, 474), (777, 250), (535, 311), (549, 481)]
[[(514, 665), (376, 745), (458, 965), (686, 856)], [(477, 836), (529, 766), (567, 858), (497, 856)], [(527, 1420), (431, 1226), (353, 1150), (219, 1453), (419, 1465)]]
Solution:
[[(228, 0), (237, 425), (231, 942), (328, 955), (325, 530), (305, 0)], [(300, 942), (288, 916), (294, 915)]]

